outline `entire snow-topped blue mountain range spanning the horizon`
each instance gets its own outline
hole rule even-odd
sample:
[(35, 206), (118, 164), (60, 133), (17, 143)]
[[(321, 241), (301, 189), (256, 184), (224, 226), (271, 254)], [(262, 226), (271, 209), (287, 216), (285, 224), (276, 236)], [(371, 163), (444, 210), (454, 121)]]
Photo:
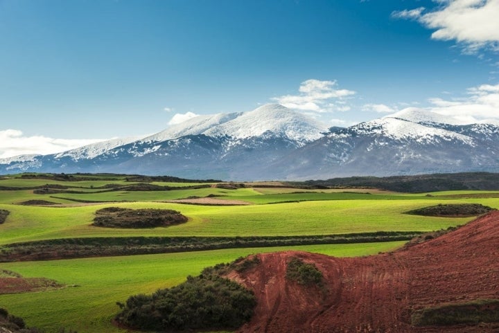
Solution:
[(197, 116), (139, 140), (0, 160), (0, 174), (121, 172), (231, 180), (499, 172), (499, 126), (421, 109), (331, 127), (281, 105)]

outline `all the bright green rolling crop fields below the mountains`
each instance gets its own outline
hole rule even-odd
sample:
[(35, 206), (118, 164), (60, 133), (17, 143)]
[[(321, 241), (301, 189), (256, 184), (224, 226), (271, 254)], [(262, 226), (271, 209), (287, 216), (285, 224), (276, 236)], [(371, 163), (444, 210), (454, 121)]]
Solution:
[[(9, 212), (5, 221), (0, 222), (0, 254), (8, 254), (10, 244), (82, 237), (103, 237), (103, 240), (104, 237), (237, 239), (381, 231), (429, 232), (466, 224), (474, 217), (429, 217), (405, 212), (439, 204), (482, 204), (499, 208), (497, 191), (407, 194), (376, 189), (292, 188), (281, 184), (279, 187), (258, 187), (257, 184), (252, 187), (251, 183), (136, 181), (120, 175), (62, 178), (0, 177), (0, 210)], [(139, 188), (121, 190), (132, 185)], [(157, 188), (150, 190), (154, 186)], [(203, 198), (204, 204), (175, 201), (198, 198)], [(221, 205), (220, 201), (211, 203), (211, 199), (225, 200), (231, 205)], [(240, 201), (245, 205), (235, 205)], [(187, 222), (157, 228), (92, 226), (96, 211), (110, 207), (176, 210), (187, 217)], [(13, 271), (25, 278), (49, 278), (64, 287), (17, 294), (1, 294), (0, 290), (0, 307), (24, 317), (29, 326), (40, 327), (46, 332), (58, 332), (60, 327), (79, 333), (126, 332), (112, 323), (112, 318), (119, 312), (116, 302), (123, 303), (132, 294), (148, 294), (158, 288), (172, 287), (184, 281), (186, 276), (198, 275), (204, 267), (231, 262), (251, 253), (296, 249), (335, 256), (360, 256), (392, 251), (405, 243), (372, 240), (353, 244), (312, 244), (313, 239), (307, 242), (301, 246), (63, 257), (44, 261), (4, 260), (0, 271)]]

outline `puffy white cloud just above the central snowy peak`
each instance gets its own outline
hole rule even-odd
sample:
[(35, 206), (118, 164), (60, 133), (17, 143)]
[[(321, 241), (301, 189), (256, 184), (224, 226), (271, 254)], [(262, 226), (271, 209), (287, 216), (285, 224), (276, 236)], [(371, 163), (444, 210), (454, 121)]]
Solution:
[(355, 94), (355, 91), (338, 89), (336, 81), (306, 80), (301, 82), (299, 94), (271, 98), (290, 109), (313, 112), (334, 111), (331, 101), (344, 100)]

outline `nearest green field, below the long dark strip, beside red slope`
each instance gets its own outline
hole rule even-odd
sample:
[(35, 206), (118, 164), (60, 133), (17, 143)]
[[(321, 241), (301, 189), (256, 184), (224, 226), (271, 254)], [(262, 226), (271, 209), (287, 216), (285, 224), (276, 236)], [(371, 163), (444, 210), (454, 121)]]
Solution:
[[(357, 256), (389, 251), (404, 242), (371, 244), (293, 246), (292, 249), (335, 256)], [(0, 307), (22, 316), (28, 325), (57, 332), (61, 323), (78, 333), (125, 332), (111, 323), (119, 312), (116, 301), (132, 294), (150, 294), (158, 288), (172, 287), (188, 275), (198, 275), (204, 267), (231, 262), (250, 253), (290, 248), (231, 249), (163, 255), (134, 255), (112, 258), (86, 258), (48, 262), (1, 264), (2, 269), (26, 277), (44, 276), (66, 287), (44, 292), (0, 296)]]

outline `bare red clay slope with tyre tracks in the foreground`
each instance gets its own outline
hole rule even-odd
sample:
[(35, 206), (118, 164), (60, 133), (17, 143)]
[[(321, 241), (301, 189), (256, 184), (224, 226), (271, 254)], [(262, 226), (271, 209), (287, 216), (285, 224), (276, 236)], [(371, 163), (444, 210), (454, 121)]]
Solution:
[[(313, 262), (325, 288), (286, 280), (290, 257)], [(238, 332), (499, 332), (499, 324), (413, 327), (414, 309), (499, 298), (499, 212), (394, 253), (362, 258), (286, 251), (229, 276), (252, 289), (258, 305)]]

